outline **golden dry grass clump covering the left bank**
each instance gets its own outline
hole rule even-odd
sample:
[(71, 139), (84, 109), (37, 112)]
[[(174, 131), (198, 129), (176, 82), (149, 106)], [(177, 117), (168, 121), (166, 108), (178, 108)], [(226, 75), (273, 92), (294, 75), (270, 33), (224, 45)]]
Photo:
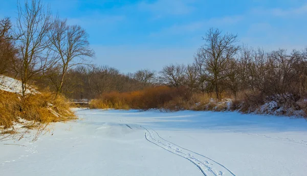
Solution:
[(12, 127), (13, 122), (19, 122), (19, 119), (31, 121), (29, 127), (25, 127), (33, 129), (38, 127), (35, 123), (48, 124), (75, 118), (68, 100), (49, 92), (19, 97), (0, 90), (0, 112), (0, 126), (4, 129)]

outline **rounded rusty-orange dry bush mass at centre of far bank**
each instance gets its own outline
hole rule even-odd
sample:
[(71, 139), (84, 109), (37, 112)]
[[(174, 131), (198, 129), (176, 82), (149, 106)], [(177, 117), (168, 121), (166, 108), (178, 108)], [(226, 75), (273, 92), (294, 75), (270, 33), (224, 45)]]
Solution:
[[(185, 88), (167, 86), (150, 87), (133, 92), (110, 92), (91, 102), (91, 108), (99, 109), (153, 109), (176, 107), (177, 100), (188, 102), (190, 93)], [(166, 107), (165, 107), (166, 106)]]

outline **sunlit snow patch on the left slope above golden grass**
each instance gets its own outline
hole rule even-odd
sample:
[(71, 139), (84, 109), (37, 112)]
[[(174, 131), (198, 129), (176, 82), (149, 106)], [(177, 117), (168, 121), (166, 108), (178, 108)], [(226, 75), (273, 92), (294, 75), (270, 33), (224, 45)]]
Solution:
[[(19, 94), (23, 92), (20, 81), (3, 75), (0, 75), (0, 90)], [(26, 94), (31, 92), (37, 93), (37, 91), (32, 88), (26, 90)]]

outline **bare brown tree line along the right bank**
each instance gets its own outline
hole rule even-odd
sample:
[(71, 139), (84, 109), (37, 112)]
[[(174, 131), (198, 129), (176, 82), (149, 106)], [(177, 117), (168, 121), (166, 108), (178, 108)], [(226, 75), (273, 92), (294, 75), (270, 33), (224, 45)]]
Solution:
[(255, 100), (297, 102), (306, 96), (307, 48), (266, 52), (238, 44), (237, 35), (210, 29), (190, 65), (170, 64), (161, 71), (164, 83), (185, 86), (193, 93), (244, 93)]

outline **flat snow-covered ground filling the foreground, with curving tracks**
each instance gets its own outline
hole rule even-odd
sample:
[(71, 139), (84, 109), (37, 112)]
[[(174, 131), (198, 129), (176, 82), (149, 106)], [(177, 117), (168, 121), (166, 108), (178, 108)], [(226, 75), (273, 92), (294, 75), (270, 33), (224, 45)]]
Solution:
[[(307, 122), (236, 112), (76, 109), (0, 142), (0, 175), (307, 175)], [(30, 135), (30, 134), (29, 134)]]

